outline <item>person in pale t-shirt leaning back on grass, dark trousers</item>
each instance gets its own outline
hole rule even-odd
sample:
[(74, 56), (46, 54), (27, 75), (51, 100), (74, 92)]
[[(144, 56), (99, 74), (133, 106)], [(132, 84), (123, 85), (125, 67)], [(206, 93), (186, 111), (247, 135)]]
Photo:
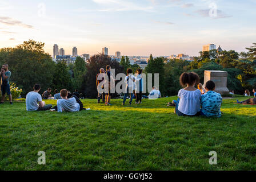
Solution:
[(58, 112), (62, 111), (70, 111), (70, 112), (77, 112), (83, 110), (83, 104), (79, 100), (77, 96), (72, 96), (71, 98), (67, 98), (67, 90), (62, 89), (61, 90), (61, 98), (57, 101), (57, 108), (54, 107), (54, 109), (58, 110)]

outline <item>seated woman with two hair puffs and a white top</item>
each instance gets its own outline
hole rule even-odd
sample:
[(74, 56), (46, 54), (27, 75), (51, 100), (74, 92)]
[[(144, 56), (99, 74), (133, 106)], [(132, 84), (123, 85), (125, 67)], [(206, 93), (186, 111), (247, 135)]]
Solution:
[(179, 90), (178, 101), (174, 102), (176, 104), (175, 113), (179, 116), (200, 115), (201, 91), (195, 88), (199, 82), (199, 76), (194, 72), (182, 73), (179, 82), (186, 88)]

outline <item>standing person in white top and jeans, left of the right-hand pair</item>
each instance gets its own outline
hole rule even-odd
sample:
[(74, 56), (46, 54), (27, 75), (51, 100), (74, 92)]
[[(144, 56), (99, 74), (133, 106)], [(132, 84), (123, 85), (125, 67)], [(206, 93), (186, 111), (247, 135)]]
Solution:
[(126, 97), (128, 94), (130, 94), (130, 102), (129, 104), (131, 105), (131, 102), (133, 102), (133, 90), (135, 90), (135, 81), (141, 80), (141, 77), (137, 78), (133, 75), (131, 75), (133, 71), (128, 68), (127, 69), (127, 76), (125, 77), (125, 83), (126, 83), (126, 89), (125, 89), (125, 96), (123, 96), (123, 103), (122, 105), (125, 105)]

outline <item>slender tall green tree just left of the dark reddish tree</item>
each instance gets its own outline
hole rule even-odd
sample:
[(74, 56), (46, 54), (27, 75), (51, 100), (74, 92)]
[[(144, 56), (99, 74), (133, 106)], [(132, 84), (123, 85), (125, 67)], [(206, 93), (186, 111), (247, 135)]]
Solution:
[(86, 74), (86, 63), (85, 60), (83, 60), (80, 56), (75, 59), (74, 64), (74, 78), (73, 78), (73, 84), (74, 88), (78, 89), (78, 92), (82, 92), (82, 82), (83, 82), (83, 76)]

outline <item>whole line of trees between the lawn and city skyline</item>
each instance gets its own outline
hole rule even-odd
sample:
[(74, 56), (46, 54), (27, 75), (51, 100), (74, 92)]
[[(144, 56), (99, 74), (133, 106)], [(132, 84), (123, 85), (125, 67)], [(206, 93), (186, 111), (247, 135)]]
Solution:
[[(0, 49), (0, 64), (9, 64), (12, 75), (11, 82), (22, 88), (22, 96), (33, 89), (35, 83), (41, 84), (41, 92), (47, 88), (66, 88), (73, 92), (78, 92), (86, 98), (96, 98), (96, 75), (100, 68), (110, 65), (115, 69), (115, 75), (126, 73), (127, 68), (131, 68), (135, 73), (139, 68), (138, 64), (130, 64), (127, 56), (122, 56), (121, 62), (111, 60), (111, 57), (98, 53), (93, 55), (85, 63), (81, 57), (77, 57), (74, 64), (66, 65), (64, 61), (54, 63), (49, 53), (43, 50), (44, 43), (29, 40), (14, 48)], [(199, 52), (199, 56), (193, 61), (183, 61), (179, 59), (169, 60), (165, 57), (149, 57), (149, 61), (144, 73), (159, 73), (159, 89), (163, 96), (177, 95), (181, 89), (179, 76), (183, 72), (198, 73), (201, 82), (205, 70), (227, 71), (227, 87), (235, 90), (238, 94), (243, 94), (245, 89), (256, 87), (256, 43), (248, 52), (235, 52), (234, 50), (218, 52)], [(153, 77), (154, 78), (154, 77)], [(154, 85), (154, 80), (153, 80)]]

